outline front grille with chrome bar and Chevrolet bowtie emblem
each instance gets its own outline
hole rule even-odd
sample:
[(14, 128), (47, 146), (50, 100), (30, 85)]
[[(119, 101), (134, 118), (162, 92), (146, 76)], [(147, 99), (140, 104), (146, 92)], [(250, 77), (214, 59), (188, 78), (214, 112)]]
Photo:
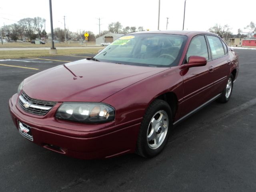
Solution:
[(18, 102), (24, 111), (35, 115), (45, 115), (56, 104), (56, 102), (32, 99), (25, 92), (20, 94)]

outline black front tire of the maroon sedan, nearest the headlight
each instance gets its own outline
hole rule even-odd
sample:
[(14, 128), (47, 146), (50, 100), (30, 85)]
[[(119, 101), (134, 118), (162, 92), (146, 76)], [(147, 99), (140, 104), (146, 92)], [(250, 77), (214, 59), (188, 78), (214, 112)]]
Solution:
[[(162, 122), (162, 124), (156, 124), (155, 128), (152, 128), (152, 121), (154, 121), (153, 118), (156, 120), (156, 122), (160, 121), (161, 118), (160, 122)], [(159, 128), (157, 128), (158, 126)], [(147, 108), (142, 119), (137, 140), (136, 153), (146, 158), (154, 157), (159, 154), (166, 145), (172, 126), (172, 110), (168, 103), (164, 100), (154, 100)], [(158, 130), (157, 132), (155, 131), (156, 129)], [(155, 136), (161, 138), (161, 142), (157, 144), (158, 141), (150, 140), (150, 134), (152, 137), (154, 134)], [(148, 139), (150, 141), (148, 141)]]

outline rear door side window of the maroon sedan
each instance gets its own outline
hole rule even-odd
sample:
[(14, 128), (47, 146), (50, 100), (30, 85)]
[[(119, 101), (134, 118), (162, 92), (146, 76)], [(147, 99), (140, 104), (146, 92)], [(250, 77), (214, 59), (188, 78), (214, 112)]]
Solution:
[(220, 42), (220, 39), (215, 36), (207, 36), (210, 49), (212, 52), (212, 58), (220, 58), (225, 55), (224, 48), (222, 46), (222, 42)]

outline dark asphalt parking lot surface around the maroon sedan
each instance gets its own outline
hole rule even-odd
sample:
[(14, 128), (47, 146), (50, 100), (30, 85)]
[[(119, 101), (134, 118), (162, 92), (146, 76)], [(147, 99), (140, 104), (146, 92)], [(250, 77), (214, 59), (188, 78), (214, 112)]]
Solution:
[(74, 159), (32, 144), (14, 127), (8, 100), (24, 78), (92, 55), (0, 60), (0, 191), (256, 191), (256, 50), (235, 51), (240, 72), (230, 101), (212, 102), (176, 126), (152, 159)]

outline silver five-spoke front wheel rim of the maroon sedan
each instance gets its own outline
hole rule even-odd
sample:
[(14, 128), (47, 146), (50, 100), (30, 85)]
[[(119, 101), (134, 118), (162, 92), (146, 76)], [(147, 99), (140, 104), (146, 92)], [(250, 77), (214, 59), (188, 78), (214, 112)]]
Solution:
[(154, 114), (148, 125), (147, 141), (151, 149), (157, 149), (162, 145), (168, 131), (169, 118), (164, 110)]

